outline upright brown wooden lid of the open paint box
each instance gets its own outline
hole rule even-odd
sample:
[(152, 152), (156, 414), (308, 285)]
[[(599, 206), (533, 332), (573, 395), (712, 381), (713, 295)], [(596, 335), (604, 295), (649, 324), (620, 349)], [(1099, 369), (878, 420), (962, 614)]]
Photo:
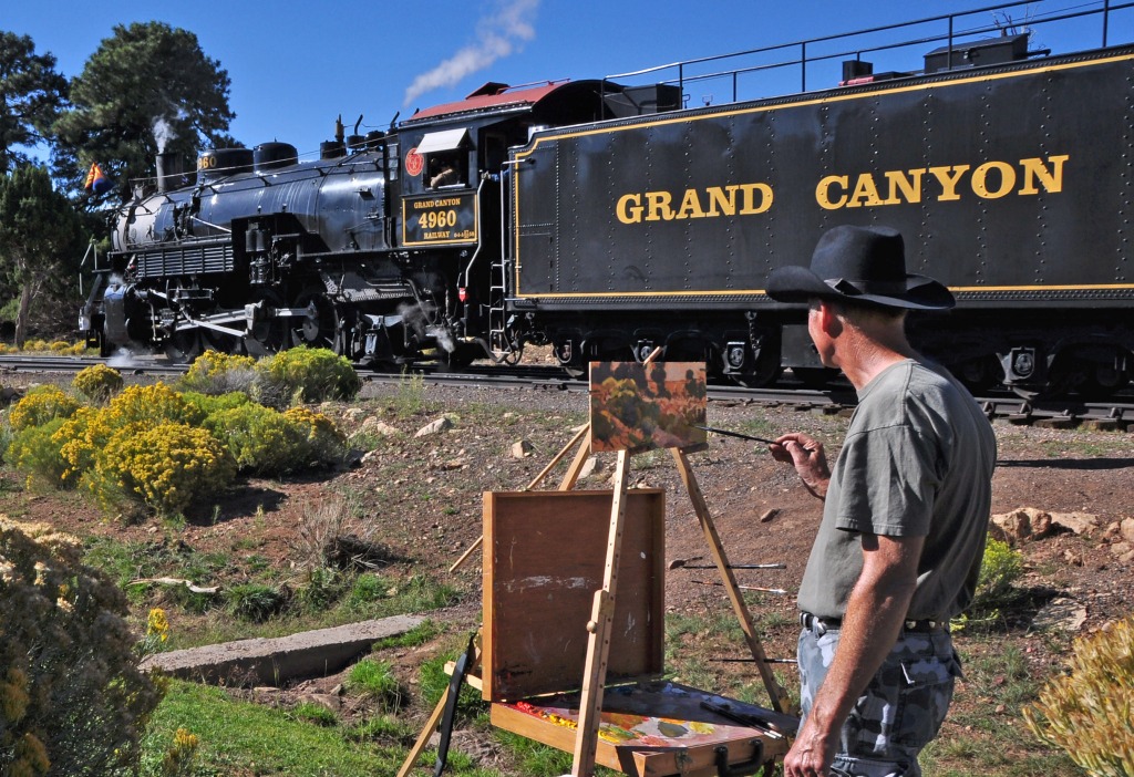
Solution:
[[(484, 494), (485, 699), (579, 688), (612, 494)], [(665, 663), (665, 492), (631, 490), (625, 520), (610, 681), (657, 676)]]

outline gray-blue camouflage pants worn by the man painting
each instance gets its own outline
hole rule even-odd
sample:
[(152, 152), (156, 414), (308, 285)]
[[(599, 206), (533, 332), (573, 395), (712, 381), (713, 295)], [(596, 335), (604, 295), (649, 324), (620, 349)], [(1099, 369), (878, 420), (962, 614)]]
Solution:
[[(799, 633), (804, 718), (838, 642), (837, 629), (818, 623)], [(831, 774), (920, 777), (917, 753), (937, 736), (958, 676), (960, 663), (949, 632), (903, 632), (843, 725)]]

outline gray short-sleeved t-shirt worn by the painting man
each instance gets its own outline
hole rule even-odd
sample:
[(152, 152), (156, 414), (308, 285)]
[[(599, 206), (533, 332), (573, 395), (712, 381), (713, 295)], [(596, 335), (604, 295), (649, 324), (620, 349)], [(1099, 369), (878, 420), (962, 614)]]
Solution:
[(862, 573), (860, 535), (925, 537), (911, 620), (943, 620), (972, 601), (992, 501), (996, 436), (943, 368), (895, 364), (858, 392), (831, 471), (799, 609), (841, 618)]

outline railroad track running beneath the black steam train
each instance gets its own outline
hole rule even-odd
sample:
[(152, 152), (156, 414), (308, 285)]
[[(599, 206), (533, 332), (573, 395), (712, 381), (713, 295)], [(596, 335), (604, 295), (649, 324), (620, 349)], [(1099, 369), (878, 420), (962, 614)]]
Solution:
[[(3, 373), (77, 373), (95, 364), (105, 364), (127, 375), (181, 375), (186, 365), (177, 365), (160, 356), (125, 358), (86, 357), (24, 357), (0, 356), (0, 374)], [(365, 381), (397, 383), (406, 379), (396, 373), (379, 373), (359, 369)], [(553, 366), (473, 366), (462, 373), (451, 373), (434, 367), (415, 368), (422, 379), (437, 385), (452, 386), (499, 386), (530, 387), (536, 391), (585, 392), (586, 381), (572, 378)], [(792, 385), (771, 388), (745, 388), (742, 386), (714, 385), (709, 387), (709, 399), (717, 402), (744, 404), (780, 404), (820, 412), (848, 412), (855, 404), (855, 394), (849, 386), (835, 385), (829, 390), (796, 387)], [(1094, 429), (1124, 430), (1134, 427), (1134, 396), (1118, 395), (1110, 400), (1086, 401), (1069, 398), (1023, 399), (1004, 392), (976, 400), (990, 419), (1005, 419), (1012, 424), (1034, 425), (1048, 428), (1073, 428), (1085, 426)]]

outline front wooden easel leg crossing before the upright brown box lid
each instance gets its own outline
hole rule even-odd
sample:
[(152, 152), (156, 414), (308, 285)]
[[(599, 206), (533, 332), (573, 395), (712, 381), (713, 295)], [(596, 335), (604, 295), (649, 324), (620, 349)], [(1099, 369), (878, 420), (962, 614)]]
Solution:
[(602, 589), (594, 592), (591, 635), (586, 643), (586, 666), (583, 671), (583, 694), (578, 708), (578, 733), (575, 736), (575, 758), (572, 777), (591, 777), (594, 774), (595, 749), (599, 744), (599, 716), (602, 711), (603, 685), (607, 680), (607, 659), (610, 655), (610, 627), (615, 617), (615, 591), (618, 587), (618, 562), (621, 553), (623, 527), (626, 518), (626, 464), (629, 454), (618, 452), (615, 473), (615, 494), (610, 509), (610, 533), (607, 538), (607, 565)]

